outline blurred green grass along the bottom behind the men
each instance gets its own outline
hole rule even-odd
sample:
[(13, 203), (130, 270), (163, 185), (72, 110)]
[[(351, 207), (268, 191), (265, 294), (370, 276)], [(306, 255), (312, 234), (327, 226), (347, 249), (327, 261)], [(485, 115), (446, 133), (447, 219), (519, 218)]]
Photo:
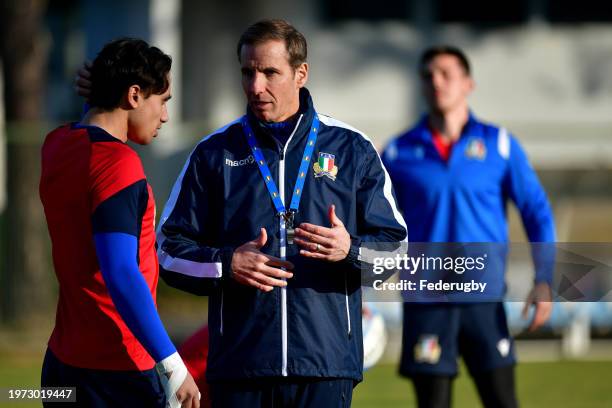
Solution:
[[(38, 357), (0, 355), (0, 388), (36, 387)], [(517, 369), (521, 407), (604, 408), (612, 406), (612, 361), (523, 363)], [(465, 372), (455, 382), (455, 407), (478, 407), (479, 400)], [(1, 403), (1, 407), (40, 407), (35, 403)], [(353, 398), (354, 408), (414, 407), (410, 383), (396, 375), (394, 365), (366, 372)]]

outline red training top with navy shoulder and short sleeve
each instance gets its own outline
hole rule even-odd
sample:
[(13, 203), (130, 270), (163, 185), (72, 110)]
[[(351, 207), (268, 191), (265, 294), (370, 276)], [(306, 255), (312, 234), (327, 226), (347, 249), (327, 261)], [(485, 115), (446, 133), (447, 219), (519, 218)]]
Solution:
[(137, 238), (138, 269), (155, 302), (155, 203), (138, 155), (100, 128), (62, 126), (42, 148), (40, 196), (59, 281), (51, 351), (76, 367), (153, 368), (109, 295), (93, 239), (97, 233)]

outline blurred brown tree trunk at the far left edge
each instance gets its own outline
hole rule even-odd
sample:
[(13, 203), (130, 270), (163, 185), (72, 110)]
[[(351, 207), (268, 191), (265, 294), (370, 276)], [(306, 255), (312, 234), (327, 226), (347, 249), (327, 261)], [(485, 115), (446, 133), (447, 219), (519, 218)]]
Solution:
[(7, 123), (7, 208), (0, 306), (5, 323), (35, 324), (52, 298), (45, 220), (38, 198), (47, 46), (44, 0), (0, 1), (0, 57)]

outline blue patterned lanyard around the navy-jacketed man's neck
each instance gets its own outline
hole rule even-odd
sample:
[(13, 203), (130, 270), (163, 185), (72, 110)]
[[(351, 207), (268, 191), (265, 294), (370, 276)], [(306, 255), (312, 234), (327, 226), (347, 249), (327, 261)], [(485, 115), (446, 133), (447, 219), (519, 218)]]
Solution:
[[(257, 166), (259, 166), (259, 172), (261, 173), (261, 177), (263, 177), (264, 182), (266, 183), (266, 187), (268, 188), (268, 192), (270, 193), (270, 197), (274, 202), (276, 214), (283, 217), (286, 221), (292, 224), (293, 215), (297, 212), (298, 207), (300, 206), (302, 190), (304, 189), (306, 175), (308, 174), (308, 163), (312, 158), (312, 152), (314, 151), (314, 147), (317, 142), (317, 131), (319, 128), (318, 115), (315, 113), (314, 118), (312, 119), (312, 126), (310, 127), (308, 140), (306, 141), (306, 148), (304, 149), (304, 155), (302, 156), (302, 163), (300, 164), (300, 169), (298, 171), (297, 179), (295, 181), (295, 187), (293, 188), (293, 195), (291, 196), (291, 205), (289, 206), (289, 211), (286, 210), (285, 203), (283, 203), (283, 200), (280, 199), (280, 194), (278, 192), (278, 188), (276, 187), (276, 183), (274, 182), (274, 178), (272, 177), (272, 173), (270, 173), (268, 163), (263, 157), (261, 149), (257, 145), (255, 133), (253, 133), (253, 130), (249, 125), (249, 121), (246, 115), (242, 117), (242, 127), (244, 129), (249, 146), (251, 146), (253, 157), (257, 162)], [(287, 143), (289, 143), (289, 141), (287, 141)]]

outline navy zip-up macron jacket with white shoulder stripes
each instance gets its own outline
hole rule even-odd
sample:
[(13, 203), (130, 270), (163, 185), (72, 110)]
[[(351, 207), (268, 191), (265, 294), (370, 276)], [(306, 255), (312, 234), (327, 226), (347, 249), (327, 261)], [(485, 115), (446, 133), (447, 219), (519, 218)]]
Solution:
[[(286, 206), (315, 114), (305, 89), (299, 113), (285, 151), (248, 113)], [(311, 260), (290, 245), (287, 259), (295, 269), (286, 289), (264, 293), (231, 278), (233, 250), (255, 239), (260, 227), (268, 233), (262, 251), (280, 257), (279, 219), (240, 121), (195, 147), (162, 214), (158, 254), (163, 279), (210, 296), (210, 381), (283, 375), (361, 380), (361, 277), (356, 247), (362, 241), (403, 241), (406, 228), (372, 143), (339, 121), (319, 117), (296, 225), (310, 222), (329, 227), (328, 207), (335, 204), (336, 214), (353, 237), (347, 260)], [(335, 179), (315, 177), (313, 164), (319, 153), (335, 156)]]

